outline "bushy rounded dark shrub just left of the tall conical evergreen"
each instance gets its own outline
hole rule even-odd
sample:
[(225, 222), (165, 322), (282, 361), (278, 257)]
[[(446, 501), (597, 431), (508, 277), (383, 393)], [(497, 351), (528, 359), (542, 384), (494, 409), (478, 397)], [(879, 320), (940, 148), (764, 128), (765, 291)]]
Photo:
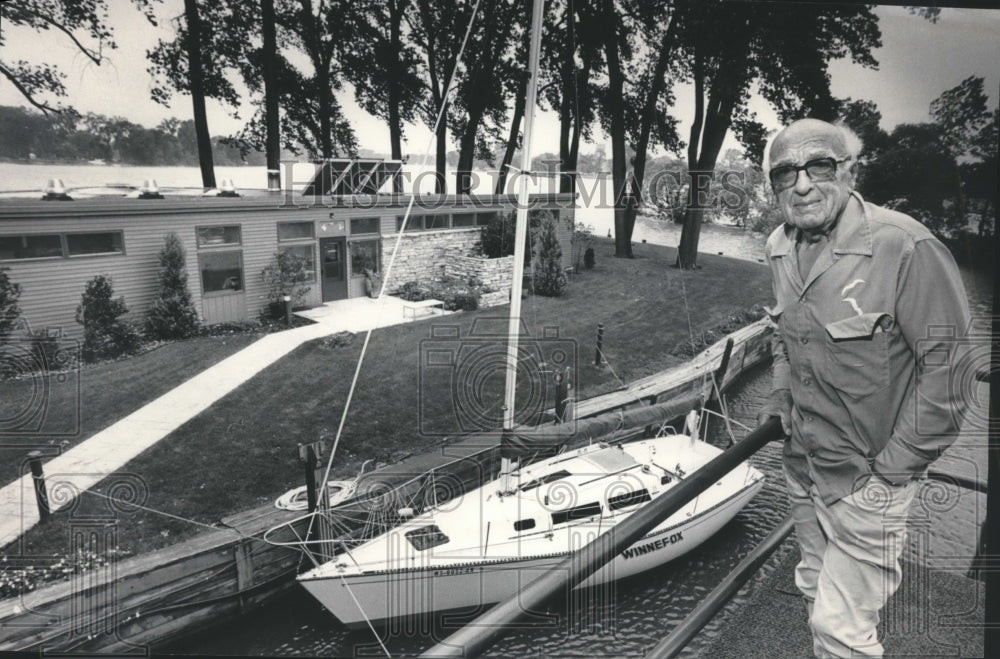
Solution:
[(87, 282), (76, 308), (76, 322), (83, 325), (83, 359), (95, 361), (130, 354), (141, 339), (135, 327), (121, 317), (128, 313), (125, 298), (113, 298), (111, 277), (98, 275)]

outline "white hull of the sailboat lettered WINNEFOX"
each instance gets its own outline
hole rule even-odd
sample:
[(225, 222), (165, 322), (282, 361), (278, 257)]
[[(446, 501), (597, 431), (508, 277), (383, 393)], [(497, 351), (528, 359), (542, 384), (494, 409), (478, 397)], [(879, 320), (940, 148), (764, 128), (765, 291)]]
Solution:
[[(685, 444), (689, 441), (683, 438)], [(697, 444), (708, 447), (709, 452), (718, 452), (707, 444)], [(711, 456), (700, 456), (704, 461), (708, 457)], [(728, 523), (762, 484), (762, 475), (753, 467), (737, 468), (621, 552), (580, 587), (610, 584), (659, 567), (694, 549)], [(489, 487), (472, 493), (485, 495), (488, 500), (476, 501), (475, 496), (470, 496), (471, 501), (466, 500), (463, 505), (471, 505), (488, 514), (489, 500), (493, 499), (489, 496)], [(301, 575), (299, 580), (313, 597), (350, 627), (368, 623), (382, 625), (395, 618), (438, 611), (453, 611), (454, 615), (465, 619), (511, 597), (551, 570), (571, 551), (588, 544), (627, 516), (618, 515), (609, 521), (605, 514), (569, 525), (562, 532), (550, 531), (541, 537), (537, 533), (527, 534), (529, 537), (518, 538), (515, 546), (491, 543), (487, 539), (482, 543), (484, 546), (469, 547), (466, 551), (407, 551), (406, 528), (419, 528), (418, 525), (425, 524), (428, 519), (439, 521), (448, 517), (446, 513), (429, 518), (421, 516), (408, 522), (403, 529), (390, 531), (366, 545), (369, 553), (366, 554), (365, 548), (352, 551), (351, 556), (358, 563), (349, 566), (350, 558), (338, 557)], [(441, 523), (442, 528), (447, 528), (444, 521)], [(478, 524), (479, 520), (471, 517), (465, 522), (469, 528)], [(487, 538), (489, 534), (487, 528)], [(372, 555), (372, 549), (383, 560), (361, 562)]]

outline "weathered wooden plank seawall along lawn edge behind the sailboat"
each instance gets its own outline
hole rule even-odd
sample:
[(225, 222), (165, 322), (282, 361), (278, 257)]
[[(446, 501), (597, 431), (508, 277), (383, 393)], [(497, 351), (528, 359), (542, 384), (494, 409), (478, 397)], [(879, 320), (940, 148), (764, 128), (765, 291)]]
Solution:
[[(726, 340), (688, 364), (579, 402), (573, 417), (577, 423), (596, 419), (576, 441), (635, 434), (619, 422), (626, 418), (624, 412), (633, 410), (630, 417), (640, 419), (636, 423), (641, 430), (649, 421), (636, 408), (707, 395), (713, 375), (724, 390), (745, 369), (770, 356), (770, 336), (765, 321), (731, 334), (728, 338), (734, 343), (724, 372), (719, 371)], [(456, 484), (478, 483), (493, 471), (498, 444), (498, 434), (470, 436), (369, 472), (358, 482), (361, 500), (346, 506), (363, 513), (372, 505), (365, 495), (392, 492), (393, 504), (427, 492), (436, 495), (435, 487), (442, 481), (429, 478), (430, 473), (451, 479), (445, 489), (452, 492)], [(186, 542), (74, 575), (20, 599), (0, 601), (0, 650), (142, 653), (153, 642), (239, 616), (295, 585), (303, 554), (265, 542), (263, 535), (286, 525), (269, 539), (301, 538), (305, 535), (301, 516), (264, 506), (226, 518), (218, 530)]]

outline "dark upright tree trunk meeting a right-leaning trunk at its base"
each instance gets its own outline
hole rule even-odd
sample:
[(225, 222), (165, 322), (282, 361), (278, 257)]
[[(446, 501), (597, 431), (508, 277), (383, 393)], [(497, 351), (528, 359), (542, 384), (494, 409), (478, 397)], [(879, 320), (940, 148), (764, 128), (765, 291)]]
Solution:
[(615, 256), (632, 257), (632, 236), (625, 229), (625, 104), (624, 76), (618, 53), (618, 17), (612, 0), (604, 0), (604, 54), (608, 62), (608, 114), (611, 116), (611, 180), (615, 196)]

